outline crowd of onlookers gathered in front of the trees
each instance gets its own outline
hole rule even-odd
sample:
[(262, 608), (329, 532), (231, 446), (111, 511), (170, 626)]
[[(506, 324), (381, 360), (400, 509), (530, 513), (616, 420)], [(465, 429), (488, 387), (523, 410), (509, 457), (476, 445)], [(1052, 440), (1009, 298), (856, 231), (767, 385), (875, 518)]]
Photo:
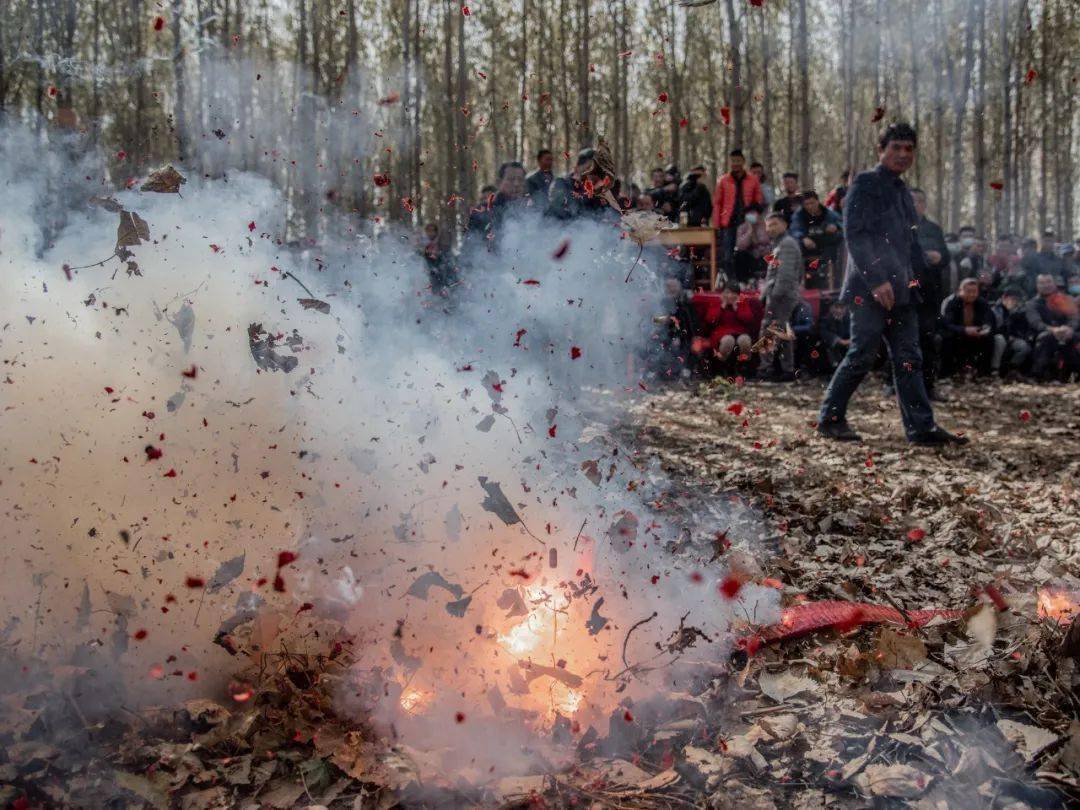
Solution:
[[(685, 176), (676, 165), (653, 168), (642, 188), (617, 180), (609, 164), (594, 149), (582, 150), (565, 176), (554, 174), (548, 149), (538, 152), (531, 173), (521, 162), (503, 163), (496, 185), (485, 186), (470, 211), (462, 255), (494, 245), (508, 217), (525, 208), (557, 219), (612, 220), (629, 210), (651, 211), (673, 227), (714, 228), (721, 270), (714, 291), (693, 292), (703, 258), (694, 248), (651, 247), (667, 309), (653, 319), (642, 359), (649, 373), (771, 381), (833, 373), (851, 343), (851, 302), (837, 289), (848, 260), (848, 172), (823, 199), (800, 188), (795, 172), (785, 172), (773, 189), (766, 167), (747, 165), (739, 149), (712, 191), (703, 165)], [(1061, 243), (1047, 228), (1038, 241), (1000, 234), (990, 251), (973, 227), (943, 232), (928, 215), (924, 191), (905, 186), (903, 193), (914, 206), (923, 259), (912, 295), (930, 397), (939, 397), (941, 376), (1080, 376), (1080, 239)], [(446, 295), (458, 283), (459, 262), (436, 226), (427, 226), (420, 249), (432, 289)], [(887, 364), (885, 341), (877, 362)]]

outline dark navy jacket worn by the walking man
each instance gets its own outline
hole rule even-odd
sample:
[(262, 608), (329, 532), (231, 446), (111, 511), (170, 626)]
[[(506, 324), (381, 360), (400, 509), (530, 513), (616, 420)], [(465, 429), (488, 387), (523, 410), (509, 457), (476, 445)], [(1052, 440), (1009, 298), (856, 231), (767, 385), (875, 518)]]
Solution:
[(926, 269), (917, 226), (912, 193), (900, 177), (880, 164), (860, 173), (843, 200), (849, 261), (840, 297), (866, 303), (874, 287), (890, 282), (897, 305), (917, 301), (912, 281)]

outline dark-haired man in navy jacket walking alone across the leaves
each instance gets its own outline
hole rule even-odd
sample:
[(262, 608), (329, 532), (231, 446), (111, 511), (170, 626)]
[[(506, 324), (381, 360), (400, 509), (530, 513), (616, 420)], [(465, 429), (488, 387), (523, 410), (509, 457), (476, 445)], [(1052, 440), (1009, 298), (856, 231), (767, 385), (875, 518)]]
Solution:
[(819, 433), (828, 438), (859, 440), (848, 424), (848, 402), (873, 367), (883, 336), (907, 440), (919, 445), (968, 441), (934, 423), (922, 379), (918, 293), (912, 282), (926, 259), (916, 239), (915, 203), (901, 179), (915, 160), (917, 140), (910, 124), (891, 124), (878, 139), (878, 165), (855, 177), (843, 201), (849, 261), (840, 297), (851, 305), (851, 346), (818, 418)]

